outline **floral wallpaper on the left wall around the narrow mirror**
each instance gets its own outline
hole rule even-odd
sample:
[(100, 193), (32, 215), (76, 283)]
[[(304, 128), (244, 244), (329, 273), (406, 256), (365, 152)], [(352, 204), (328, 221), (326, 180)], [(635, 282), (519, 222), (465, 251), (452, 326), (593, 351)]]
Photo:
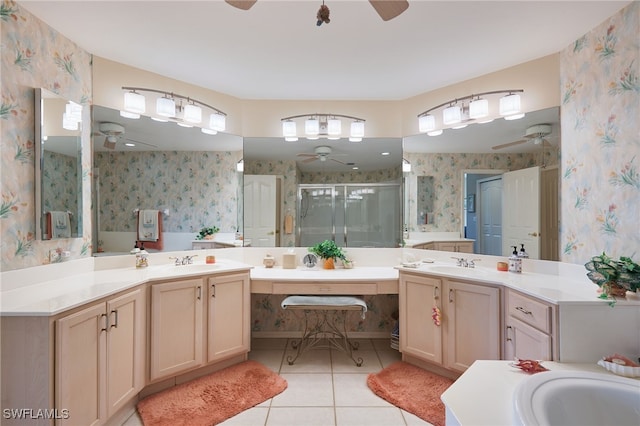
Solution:
[(34, 101), (44, 88), (84, 105), (89, 120), (91, 55), (21, 8), (14, 1), (0, 3), (0, 270), (27, 268), (49, 262), (49, 250), (90, 255), (91, 152), (90, 126), (82, 129), (83, 235), (42, 241), (35, 236)]

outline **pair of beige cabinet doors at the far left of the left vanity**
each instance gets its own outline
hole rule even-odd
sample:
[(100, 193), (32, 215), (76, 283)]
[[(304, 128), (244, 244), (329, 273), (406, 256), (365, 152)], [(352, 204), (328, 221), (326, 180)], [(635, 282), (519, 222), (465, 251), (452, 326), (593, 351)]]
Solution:
[(102, 424), (144, 386), (145, 297), (140, 288), (55, 324), (59, 424)]

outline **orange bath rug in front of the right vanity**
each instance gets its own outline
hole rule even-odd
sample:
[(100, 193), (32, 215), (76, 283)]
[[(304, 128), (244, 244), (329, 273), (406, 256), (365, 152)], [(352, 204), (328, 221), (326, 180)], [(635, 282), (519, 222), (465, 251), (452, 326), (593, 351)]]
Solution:
[(452, 383), (451, 379), (403, 361), (367, 377), (367, 385), (373, 393), (434, 426), (445, 424), (440, 395)]

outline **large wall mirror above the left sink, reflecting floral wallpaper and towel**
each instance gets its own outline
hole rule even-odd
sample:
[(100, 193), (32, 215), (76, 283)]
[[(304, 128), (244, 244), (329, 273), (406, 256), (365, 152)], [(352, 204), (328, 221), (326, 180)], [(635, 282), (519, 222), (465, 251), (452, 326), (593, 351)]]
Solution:
[(151, 251), (192, 249), (203, 227), (232, 240), (242, 231), (241, 137), (93, 106), (92, 144), (98, 252), (131, 250), (140, 210), (161, 214), (162, 241)]

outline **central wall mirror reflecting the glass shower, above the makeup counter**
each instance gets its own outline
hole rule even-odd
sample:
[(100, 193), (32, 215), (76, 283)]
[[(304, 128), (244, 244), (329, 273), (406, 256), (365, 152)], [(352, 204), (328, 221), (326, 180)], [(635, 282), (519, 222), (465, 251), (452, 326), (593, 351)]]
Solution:
[[(244, 138), (244, 160), (244, 232), (252, 246), (307, 247), (324, 239), (345, 247), (398, 246), (401, 139)], [(265, 185), (273, 189), (256, 190)], [(249, 206), (258, 204), (254, 214)]]

